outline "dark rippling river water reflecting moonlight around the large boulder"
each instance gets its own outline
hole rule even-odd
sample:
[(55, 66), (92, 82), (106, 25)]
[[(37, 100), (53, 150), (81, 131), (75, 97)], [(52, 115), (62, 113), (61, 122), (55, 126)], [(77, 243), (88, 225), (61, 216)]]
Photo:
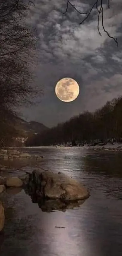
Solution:
[[(0, 255), (121, 256), (122, 153), (80, 147), (43, 147), (26, 152), (43, 155), (42, 168), (81, 181), (90, 197), (78, 208), (48, 213), (32, 203), (24, 190), (4, 193), (1, 200), (6, 221)], [(28, 165), (24, 167), (27, 169), (34, 168)]]

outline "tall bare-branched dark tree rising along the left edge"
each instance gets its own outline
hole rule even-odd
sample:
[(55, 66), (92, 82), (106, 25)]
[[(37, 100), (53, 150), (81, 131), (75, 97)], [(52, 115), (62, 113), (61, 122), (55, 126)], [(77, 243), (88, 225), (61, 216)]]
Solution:
[(33, 2), (0, 1), (0, 145), (7, 134), (16, 133), (14, 127), (10, 129), (17, 114), (14, 109), (34, 103), (35, 96), (42, 94), (41, 88), (33, 86), (37, 38), (26, 25), (29, 4)]

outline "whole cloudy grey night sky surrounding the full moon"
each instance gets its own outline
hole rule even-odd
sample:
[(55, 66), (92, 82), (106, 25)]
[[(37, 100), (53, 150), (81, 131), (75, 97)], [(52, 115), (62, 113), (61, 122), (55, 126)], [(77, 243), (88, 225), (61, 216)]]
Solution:
[[(104, 0), (104, 26), (97, 31), (97, 11), (82, 25), (84, 18), (72, 7), (64, 15), (67, 0), (35, 0), (27, 22), (38, 33), (39, 65), (35, 83), (44, 88), (41, 103), (23, 110), (27, 120), (39, 121), (48, 127), (89, 110), (94, 111), (108, 100), (122, 95), (122, 1)], [(94, 0), (71, 0), (80, 12), (87, 12)], [(100, 22), (101, 23), (101, 22)], [(64, 77), (75, 79), (80, 94), (71, 103), (55, 96), (55, 85)], [(35, 85), (33, 85), (35, 86)]]

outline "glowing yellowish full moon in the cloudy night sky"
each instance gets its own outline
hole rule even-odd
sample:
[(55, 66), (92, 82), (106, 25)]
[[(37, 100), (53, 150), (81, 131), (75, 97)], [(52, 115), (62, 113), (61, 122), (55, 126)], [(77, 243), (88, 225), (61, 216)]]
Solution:
[(71, 102), (79, 95), (79, 85), (72, 78), (62, 78), (55, 86), (55, 94), (64, 102)]

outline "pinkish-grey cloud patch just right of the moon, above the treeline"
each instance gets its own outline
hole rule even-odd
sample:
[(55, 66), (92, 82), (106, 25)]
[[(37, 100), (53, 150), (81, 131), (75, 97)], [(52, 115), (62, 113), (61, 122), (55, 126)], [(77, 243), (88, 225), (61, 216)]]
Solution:
[(103, 106), (107, 101), (122, 95), (122, 75), (114, 74), (110, 78), (91, 81), (85, 87), (84, 99), (87, 100), (84, 110), (94, 111), (96, 106)]

